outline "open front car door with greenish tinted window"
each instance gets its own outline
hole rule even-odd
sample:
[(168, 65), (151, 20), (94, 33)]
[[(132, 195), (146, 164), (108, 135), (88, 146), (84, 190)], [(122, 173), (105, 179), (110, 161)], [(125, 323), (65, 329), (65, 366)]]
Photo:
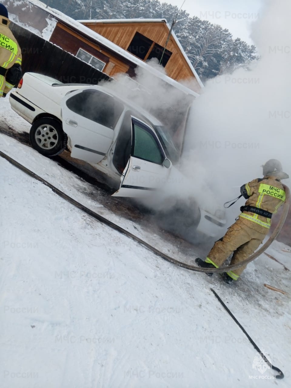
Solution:
[(145, 197), (163, 186), (171, 162), (152, 129), (132, 117), (132, 149), (121, 175), (121, 185), (113, 196)]

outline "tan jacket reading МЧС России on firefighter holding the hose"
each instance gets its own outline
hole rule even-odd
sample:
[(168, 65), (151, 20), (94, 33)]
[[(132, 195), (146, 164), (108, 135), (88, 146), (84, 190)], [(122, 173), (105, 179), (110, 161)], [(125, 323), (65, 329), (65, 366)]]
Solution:
[[(265, 230), (267, 234), (271, 226), (270, 217), (286, 200), (280, 179), (274, 176), (254, 179), (241, 187), (241, 194), (248, 199), (248, 210), (253, 211), (241, 209), (240, 220), (251, 229), (262, 233)], [(270, 213), (269, 217), (264, 217), (265, 213)]]

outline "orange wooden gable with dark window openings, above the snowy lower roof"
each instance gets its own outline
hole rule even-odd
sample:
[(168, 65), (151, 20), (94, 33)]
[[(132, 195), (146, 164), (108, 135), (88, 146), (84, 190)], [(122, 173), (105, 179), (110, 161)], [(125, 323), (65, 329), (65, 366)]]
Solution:
[[(203, 86), (166, 19), (109, 19), (79, 22), (143, 62), (156, 58), (173, 80), (191, 81), (190, 85), (197, 92)], [(112, 75), (109, 72), (107, 74)]]

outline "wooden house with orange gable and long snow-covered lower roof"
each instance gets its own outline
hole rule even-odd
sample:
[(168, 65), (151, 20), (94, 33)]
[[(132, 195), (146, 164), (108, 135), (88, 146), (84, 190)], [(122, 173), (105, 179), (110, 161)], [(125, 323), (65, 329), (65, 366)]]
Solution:
[[(138, 67), (163, 78), (169, 85), (194, 97), (203, 84), (165, 19), (75, 21), (38, 0), (2, 0), (17, 24), (29, 25), (45, 40), (75, 55), (110, 77), (134, 77)], [(165, 74), (147, 64), (149, 59)], [(181, 81), (183, 81), (181, 83)]]

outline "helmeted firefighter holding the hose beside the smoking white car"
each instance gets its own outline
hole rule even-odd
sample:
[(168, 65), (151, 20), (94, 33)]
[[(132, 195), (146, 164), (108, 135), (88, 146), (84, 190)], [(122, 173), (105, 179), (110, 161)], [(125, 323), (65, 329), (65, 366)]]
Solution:
[[(254, 179), (241, 187), (241, 194), (247, 201), (241, 207), (237, 221), (222, 239), (215, 242), (205, 262), (200, 258), (195, 260), (199, 267), (218, 268), (232, 253), (230, 265), (241, 263), (262, 244), (270, 229), (272, 214), (286, 199), (281, 179), (289, 178), (276, 159), (270, 159), (262, 167), (263, 178)], [(227, 283), (237, 280), (245, 268), (242, 266), (223, 273), (223, 280)]]

